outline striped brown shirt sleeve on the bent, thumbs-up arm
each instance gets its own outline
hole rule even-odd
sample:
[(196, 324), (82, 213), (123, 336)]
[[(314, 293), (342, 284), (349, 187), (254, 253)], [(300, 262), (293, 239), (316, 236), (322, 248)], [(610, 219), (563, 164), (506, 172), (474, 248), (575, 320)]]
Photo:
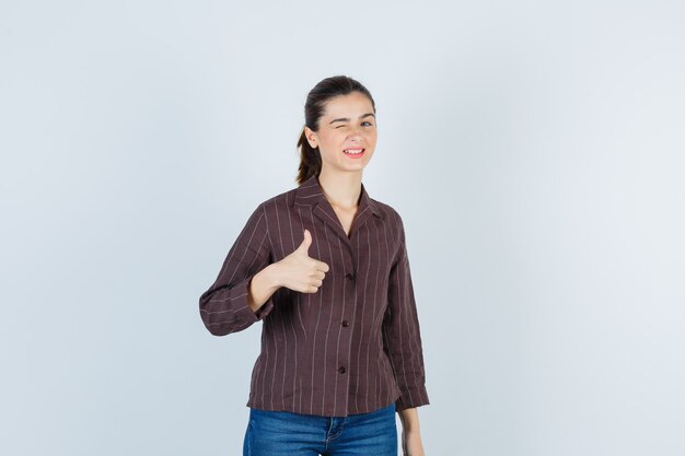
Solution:
[(241, 331), (271, 312), (274, 295), (257, 312), (247, 304), (249, 282), (269, 265), (270, 257), (266, 212), (259, 204), (229, 250), (217, 280), (200, 296), (200, 316), (209, 332)]

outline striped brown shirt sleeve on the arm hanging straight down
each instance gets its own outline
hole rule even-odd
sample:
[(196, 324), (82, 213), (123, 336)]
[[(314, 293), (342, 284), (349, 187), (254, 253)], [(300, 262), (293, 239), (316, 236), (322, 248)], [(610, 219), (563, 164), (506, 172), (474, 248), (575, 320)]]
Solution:
[(388, 303), (383, 318), (383, 350), (387, 354), (402, 395), (397, 411), (430, 404), (426, 390), (423, 353), (405, 231), (399, 214), (399, 248), (390, 271)]

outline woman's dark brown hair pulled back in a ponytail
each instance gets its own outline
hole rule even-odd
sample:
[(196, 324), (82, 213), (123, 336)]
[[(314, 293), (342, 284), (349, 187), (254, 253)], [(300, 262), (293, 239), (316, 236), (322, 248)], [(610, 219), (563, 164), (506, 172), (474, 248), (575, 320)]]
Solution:
[[(373, 106), (373, 114), (375, 114), (373, 97), (361, 82), (346, 75), (335, 75), (322, 80), (310, 91), (309, 95), (306, 95), (306, 102), (304, 103), (304, 126), (313, 131), (318, 131), (318, 120), (324, 114), (325, 105), (328, 100), (339, 95), (348, 95), (352, 92), (360, 92), (365, 95), (371, 102), (371, 106)], [(321, 173), (321, 153), (318, 148), (312, 149), (310, 145), (304, 135), (304, 127), (302, 127), (302, 132), (298, 140), (298, 149), (300, 150), (298, 184), (302, 184), (313, 175)]]

